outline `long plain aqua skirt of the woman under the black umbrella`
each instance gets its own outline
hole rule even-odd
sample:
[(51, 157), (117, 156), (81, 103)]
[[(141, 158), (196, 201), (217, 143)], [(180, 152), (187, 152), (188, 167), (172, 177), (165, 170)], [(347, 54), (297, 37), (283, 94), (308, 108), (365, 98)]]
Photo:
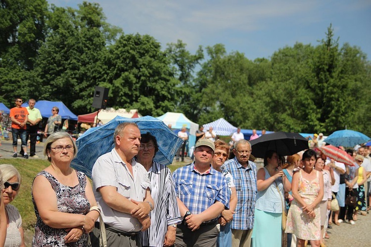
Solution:
[(281, 247), (281, 227), (282, 213), (265, 212), (255, 208), (252, 247)]

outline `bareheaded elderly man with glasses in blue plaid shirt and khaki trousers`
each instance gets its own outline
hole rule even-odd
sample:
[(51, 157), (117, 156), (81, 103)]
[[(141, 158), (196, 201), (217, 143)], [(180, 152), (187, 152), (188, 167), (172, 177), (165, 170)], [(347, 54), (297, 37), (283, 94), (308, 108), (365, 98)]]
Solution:
[(225, 169), (232, 174), (237, 192), (237, 205), (232, 220), (232, 247), (250, 247), (257, 193), (256, 165), (249, 161), (250, 142), (235, 142), (233, 154), (234, 159), (224, 164)]

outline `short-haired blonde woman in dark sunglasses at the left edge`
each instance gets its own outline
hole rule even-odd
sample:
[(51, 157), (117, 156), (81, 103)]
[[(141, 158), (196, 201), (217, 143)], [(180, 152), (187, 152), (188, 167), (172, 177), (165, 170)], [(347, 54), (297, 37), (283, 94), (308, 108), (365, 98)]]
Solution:
[(2, 181), (5, 181), (1, 189), (1, 200), (6, 216), (1, 218), (6, 222), (6, 238), (3, 246), (25, 247), (21, 215), (15, 206), (9, 204), (18, 195), (22, 182), (21, 175), (13, 165), (8, 164), (0, 165), (0, 174), (2, 174)]

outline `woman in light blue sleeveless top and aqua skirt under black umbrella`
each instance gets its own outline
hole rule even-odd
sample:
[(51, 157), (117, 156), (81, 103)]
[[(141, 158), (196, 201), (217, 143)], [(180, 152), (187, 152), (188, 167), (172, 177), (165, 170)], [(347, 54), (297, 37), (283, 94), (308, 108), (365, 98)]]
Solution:
[(254, 247), (280, 247), (282, 212), (286, 210), (284, 194), (291, 190), (291, 183), (279, 166), (279, 156), (276, 151), (266, 152), (264, 167), (258, 170), (256, 178), (258, 194), (255, 203), (252, 244)]

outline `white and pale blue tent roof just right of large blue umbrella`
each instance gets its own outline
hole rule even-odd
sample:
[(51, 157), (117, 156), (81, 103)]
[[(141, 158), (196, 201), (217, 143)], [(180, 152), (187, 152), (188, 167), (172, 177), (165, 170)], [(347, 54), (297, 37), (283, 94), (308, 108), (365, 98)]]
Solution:
[(195, 135), (198, 129), (198, 124), (193, 123), (185, 117), (183, 113), (167, 112), (164, 115), (157, 117), (157, 119), (162, 120), (166, 125), (171, 124), (172, 128), (182, 128), (185, 126), (189, 129), (189, 134)]

